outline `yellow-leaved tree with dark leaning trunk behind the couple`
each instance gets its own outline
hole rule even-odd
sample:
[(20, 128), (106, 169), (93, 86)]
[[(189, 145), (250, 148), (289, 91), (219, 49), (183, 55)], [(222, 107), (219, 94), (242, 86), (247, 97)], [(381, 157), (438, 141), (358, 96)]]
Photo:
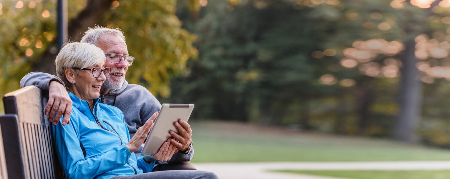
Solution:
[[(191, 2), (193, 4), (197, 2)], [(195, 36), (181, 28), (175, 16), (175, 0), (71, 0), (69, 41), (81, 39), (87, 27), (119, 27), (127, 36), (130, 55), (136, 58), (127, 80), (140, 82), (155, 94), (169, 96), (169, 77), (180, 73), (189, 58), (197, 55), (192, 47)], [(0, 93), (17, 89), (19, 80), (30, 71), (54, 73), (57, 48), (54, 40), (53, 1), (4, 1), (0, 21), (7, 26), (2, 37)]]

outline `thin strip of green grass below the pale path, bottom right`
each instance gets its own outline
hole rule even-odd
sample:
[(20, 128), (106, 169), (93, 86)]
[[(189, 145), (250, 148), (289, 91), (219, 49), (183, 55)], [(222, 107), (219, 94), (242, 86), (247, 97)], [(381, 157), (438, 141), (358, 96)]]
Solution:
[(347, 179), (449, 179), (450, 170), (284, 170), (282, 172)]

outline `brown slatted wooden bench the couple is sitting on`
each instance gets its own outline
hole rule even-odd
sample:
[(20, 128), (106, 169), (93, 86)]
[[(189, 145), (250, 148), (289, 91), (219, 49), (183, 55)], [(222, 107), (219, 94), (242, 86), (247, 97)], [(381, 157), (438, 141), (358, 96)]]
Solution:
[(0, 116), (1, 179), (65, 178), (54, 149), (51, 124), (43, 114), (46, 102), (35, 86), (4, 95), (5, 115)]

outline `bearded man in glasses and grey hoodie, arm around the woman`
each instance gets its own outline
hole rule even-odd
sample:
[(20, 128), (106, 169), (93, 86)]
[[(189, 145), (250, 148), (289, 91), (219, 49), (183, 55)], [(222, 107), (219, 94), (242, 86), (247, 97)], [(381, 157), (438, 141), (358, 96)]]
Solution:
[[(161, 103), (143, 86), (128, 84), (125, 80), (126, 71), (135, 58), (128, 55), (123, 32), (106, 27), (89, 28), (81, 42), (96, 45), (103, 50), (106, 56), (105, 67), (110, 67), (111, 72), (100, 90), (101, 103), (116, 106), (122, 110), (130, 137), (133, 137), (137, 129), (144, 125), (153, 113), (161, 109)], [(23, 77), (20, 85), (21, 87), (35, 85), (44, 92), (48, 91), (49, 100), (45, 107), (45, 115), (49, 115), (49, 121), (53, 125), (56, 125), (62, 116), (62, 125), (70, 122), (72, 101), (66, 87), (58, 77), (47, 73), (31, 72)], [(170, 131), (173, 136), (171, 143), (178, 148), (179, 152), (176, 152), (170, 161), (159, 161), (153, 171), (196, 170), (188, 163), (193, 157), (190, 125), (183, 120), (175, 122), (174, 125), (180, 134)], [(139, 154), (140, 150), (136, 153)]]

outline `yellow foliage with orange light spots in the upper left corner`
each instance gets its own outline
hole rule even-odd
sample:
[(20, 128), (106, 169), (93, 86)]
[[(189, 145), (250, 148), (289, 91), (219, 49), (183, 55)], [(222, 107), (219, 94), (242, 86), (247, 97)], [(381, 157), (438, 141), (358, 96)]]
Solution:
[[(21, 1), (22, 2), (22, 1)], [(28, 3), (28, 2), (27, 2)], [(0, 94), (17, 90), (20, 79), (30, 72), (30, 62), (36, 61), (45, 50), (45, 44), (54, 39), (54, 14), (44, 18), (41, 14), (45, 9), (54, 11), (53, 3), (35, 3), (34, 8), (29, 4), (16, 1), (2, 1), (0, 22)], [(36, 23), (39, 22), (39, 23)]]

